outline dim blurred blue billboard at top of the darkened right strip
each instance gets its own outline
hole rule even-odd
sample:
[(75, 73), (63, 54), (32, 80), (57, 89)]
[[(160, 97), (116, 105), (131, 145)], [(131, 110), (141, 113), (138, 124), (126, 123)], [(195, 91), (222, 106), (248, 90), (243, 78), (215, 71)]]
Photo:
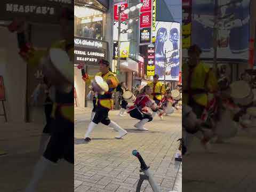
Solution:
[[(249, 59), (250, 0), (218, 1), (217, 58), (221, 60)], [(212, 59), (214, 1), (193, 1), (192, 43), (201, 47), (201, 58)], [(225, 6), (225, 9), (221, 7)], [(210, 14), (209, 14), (210, 13)], [(202, 19), (204, 18), (204, 19)]]

